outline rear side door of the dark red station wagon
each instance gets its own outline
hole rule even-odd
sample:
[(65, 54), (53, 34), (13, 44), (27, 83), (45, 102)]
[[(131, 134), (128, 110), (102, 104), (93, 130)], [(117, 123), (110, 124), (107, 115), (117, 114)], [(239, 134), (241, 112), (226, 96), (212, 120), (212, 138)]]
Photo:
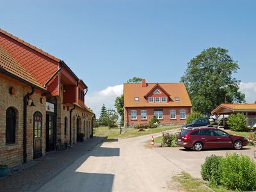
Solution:
[(204, 148), (214, 148), (216, 147), (216, 136), (213, 129), (201, 129), (200, 139), (204, 144)]

